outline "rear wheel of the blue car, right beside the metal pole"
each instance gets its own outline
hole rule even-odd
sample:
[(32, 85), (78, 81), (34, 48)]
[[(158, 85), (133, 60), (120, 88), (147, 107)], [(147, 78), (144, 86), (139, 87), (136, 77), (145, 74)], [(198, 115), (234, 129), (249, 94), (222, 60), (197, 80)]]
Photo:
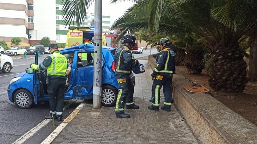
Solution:
[(114, 86), (106, 85), (102, 88), (102, 105), (115, 106), (118, 90)]

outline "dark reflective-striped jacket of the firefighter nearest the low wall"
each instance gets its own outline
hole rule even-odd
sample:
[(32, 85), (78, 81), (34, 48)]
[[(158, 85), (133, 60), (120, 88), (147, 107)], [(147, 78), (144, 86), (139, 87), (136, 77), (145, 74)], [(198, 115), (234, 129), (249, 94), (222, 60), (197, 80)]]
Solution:
[(164, 47), (156, 56), (157, 65), (151, 76), (156, 77), (156, 75), (159, 74), (166, 78), (171, 78), (173, 71), (175, 70), (175, 59), (175, 47), (173, 45)]

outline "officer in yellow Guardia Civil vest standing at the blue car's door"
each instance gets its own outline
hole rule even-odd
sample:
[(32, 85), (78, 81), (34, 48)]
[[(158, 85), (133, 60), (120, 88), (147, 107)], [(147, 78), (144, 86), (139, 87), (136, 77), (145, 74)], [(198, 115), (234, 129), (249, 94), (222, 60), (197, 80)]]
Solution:
[(57, 44), (50, 44), (48, 50), (50, 50), (51, 54), (41, 64), (31, 64), (30, 67), (34, 70), (47, 69), (46, 83), (48, 87), (50, 114), (45, 118), (62, 121), (67, 59), (60, 54)]

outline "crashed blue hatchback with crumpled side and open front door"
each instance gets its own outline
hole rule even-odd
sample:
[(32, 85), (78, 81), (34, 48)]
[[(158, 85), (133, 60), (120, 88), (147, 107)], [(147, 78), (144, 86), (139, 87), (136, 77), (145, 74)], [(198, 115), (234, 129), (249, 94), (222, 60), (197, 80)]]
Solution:
[[(114, 106), (118, 95), (115, 77), (115, 48), (102, 47), (102, 105)], [(67, 59), (74, 56), (65, 99), (93, 99), (93, 45), (78, 45), (60, 51)], [(81, 54), (87, 54), (87, 62), (81, 61)], [(35, 56), (38, 64), (38, 55)], [(135, 77), (131, 74), (135, 84)], [(8, 97), (19, 108), (29, 108), (40, 101), (48, 101), (46, 71), (27, 68), (26, 72), (14, 77), (8, 86)]]

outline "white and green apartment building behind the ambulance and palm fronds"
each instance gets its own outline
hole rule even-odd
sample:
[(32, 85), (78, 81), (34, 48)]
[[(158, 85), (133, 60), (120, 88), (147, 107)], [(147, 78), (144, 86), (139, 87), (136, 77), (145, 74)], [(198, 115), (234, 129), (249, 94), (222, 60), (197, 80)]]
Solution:
[[(56, 42), (66, 43), (68, 26), (65, 28), (65, 21), (63, 21), (62, 15), (62, 1), (56, 0), (55, 10), (56, 10)], [(82, 26), (91, 26), (91, 21), (94, 19), (93, 13), (87, 13), (87, 19)], [(76, 24), (76, 22), (74, 22)], [(103, 31), (109, 31), (110, 29), (110, 16), (102, 16), (102, 29)]]

